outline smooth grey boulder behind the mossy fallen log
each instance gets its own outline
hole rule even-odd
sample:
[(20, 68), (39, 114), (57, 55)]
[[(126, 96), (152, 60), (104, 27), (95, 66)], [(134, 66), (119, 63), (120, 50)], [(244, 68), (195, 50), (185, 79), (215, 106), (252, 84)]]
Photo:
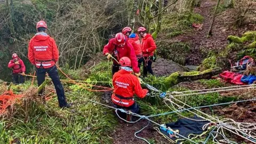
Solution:
[(153, 62), (152, 69), (156, 76), (169, 76), (177, 71), (188, 71), (187, 68), (182, 67), (172, 60), (166, 60), (159, 57), (157, 58), (156, 62)]

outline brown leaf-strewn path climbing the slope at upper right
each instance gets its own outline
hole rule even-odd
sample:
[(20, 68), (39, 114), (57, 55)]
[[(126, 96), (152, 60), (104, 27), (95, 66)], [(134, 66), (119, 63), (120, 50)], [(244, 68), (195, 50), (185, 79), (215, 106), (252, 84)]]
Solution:
[(247, 26), (235, 27), (235, 10), (228, 9), (220, 12), (215, 18), (212, 36), (207, 37), (211, 26), (213, 8), (217, 1), (203, 0), (200, 7), (195, 8), (195, 12), (204, 17), (202, 27), (195, 29), (193, 33), (180, 35), (173, 38), (173, 41), (190, 43), (190, 53), (186, 59), (187, 65), (198, 65), (207, 56), (209, 52), (219, 52), (228, 45), (227, 37), (229, 35), (241, 36), (245, 31), (256, 30), (255, 23), (249, 23)]

